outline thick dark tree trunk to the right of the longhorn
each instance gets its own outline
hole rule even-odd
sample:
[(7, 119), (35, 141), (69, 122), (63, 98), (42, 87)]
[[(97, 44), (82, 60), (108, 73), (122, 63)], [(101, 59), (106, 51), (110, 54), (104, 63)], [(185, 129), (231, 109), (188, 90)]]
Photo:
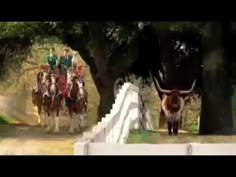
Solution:
[(200, 134), (230, 133), (232, 109), (223, 49), (223, 27), (209, 23), (203, 33), (203, 91)]

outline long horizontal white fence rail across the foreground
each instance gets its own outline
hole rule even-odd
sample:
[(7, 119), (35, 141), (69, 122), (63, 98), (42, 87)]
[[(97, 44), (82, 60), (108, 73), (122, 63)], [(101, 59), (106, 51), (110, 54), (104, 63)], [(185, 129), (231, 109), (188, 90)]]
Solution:
[(76, 155), (236, 155), (236, 144), (77, 143)]

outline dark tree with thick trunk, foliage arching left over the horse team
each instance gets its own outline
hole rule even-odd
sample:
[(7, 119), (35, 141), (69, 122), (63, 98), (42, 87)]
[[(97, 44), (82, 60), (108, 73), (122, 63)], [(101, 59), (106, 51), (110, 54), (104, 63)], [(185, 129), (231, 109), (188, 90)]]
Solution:
[[(108, 113), (114, 102), (114, 81), (118, 76), (127, 73), (130, 63), (137, 56), (137, 47), (133, 40), (135, 31), (138, 31), (136, 23), (2, 22), (0, 29), (0, 43), (6, 46), (2, 47), (2, 73), (5, 73), (3, 68), (9, 67), (9, 63), (14, 63), (13, 68), (21, 68), (20, 64), (27, 58), (35, 36), (58, 36), (65, 44), (79, 51), (90, 66), (101, 96), (99, 117)], [(20, 48), (8, 54), (6, 51), (9, 50), (9, 44), (12, 44), (11, 48)], [(17, 58), (20, 52), (24, 55)], [(10, 61), (9, 55), (12, 58)], [(19, 63), (17, 67), (16, 63)]]

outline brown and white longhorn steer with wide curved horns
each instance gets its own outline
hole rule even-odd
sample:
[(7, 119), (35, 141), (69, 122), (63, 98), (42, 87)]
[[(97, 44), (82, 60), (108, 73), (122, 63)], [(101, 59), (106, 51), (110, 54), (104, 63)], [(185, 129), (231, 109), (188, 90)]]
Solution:
[[(168, 125), (168, 134), (174, 135), (178, 134), (179, 121), (182, 116), (183, 108), (185, 105), (184, 95), (187, 95), (193, 91), (196, 80), (194, 80), (192, 87), (189, 90), (166, 90), (162, 89), (155, 77), (154, 81), (156, 82), (157, 89), (163, 93), (161, 100), (161, 108), (164, 112), (167, 125)], [(173, 132), (172, 132), (173, 129)]]

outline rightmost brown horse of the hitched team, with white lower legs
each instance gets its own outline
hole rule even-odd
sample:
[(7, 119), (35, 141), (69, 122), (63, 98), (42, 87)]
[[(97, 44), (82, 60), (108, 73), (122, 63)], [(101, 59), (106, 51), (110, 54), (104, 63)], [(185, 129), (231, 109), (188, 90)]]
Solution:
[(74, 130), (79, 131), (81, 121), (84, 119), (84, 105), (86, 100), (83, 83), (76, 76), (73, 76), (69, 83), (71, 85), (68, 88), (66, 105), (70, 117), (69, 133), (73, 133)]

